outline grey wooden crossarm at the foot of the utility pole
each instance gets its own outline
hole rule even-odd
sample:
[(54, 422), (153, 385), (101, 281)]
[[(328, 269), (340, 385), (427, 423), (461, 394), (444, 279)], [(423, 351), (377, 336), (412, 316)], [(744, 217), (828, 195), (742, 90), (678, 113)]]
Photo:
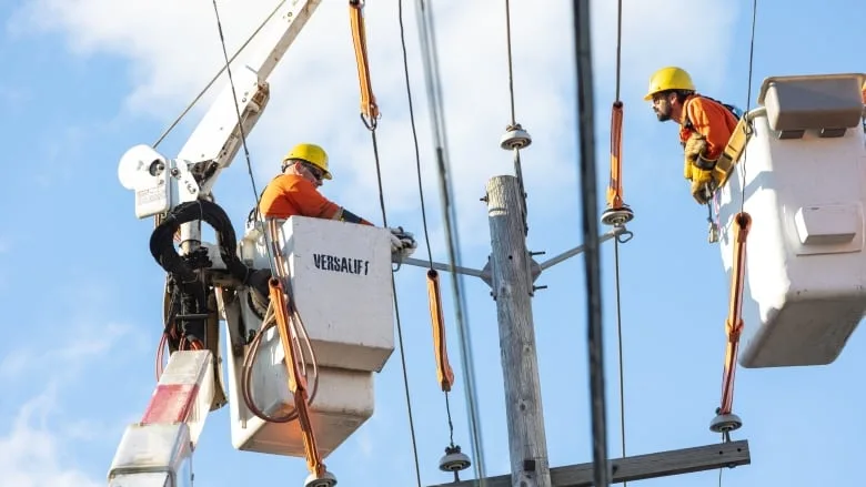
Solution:
[[(617, 458), (610, 460), (608, 465), (613, 471), (611, 481), (621, 484), (624, 481), (749, 465), (751, 463), (752, 456), (748, 452), (748, 442), (743, 439), (739, 442)], [(593, 464), (551, 468), (551, 479), (553, 487), (592, 487)], [(474, 487), (475, 485), (477, 485), (477, 480), (463, 480), (432, 487)], [(511, 477), (507, 475), (487, 477), (486, 486), (511, 487)]]

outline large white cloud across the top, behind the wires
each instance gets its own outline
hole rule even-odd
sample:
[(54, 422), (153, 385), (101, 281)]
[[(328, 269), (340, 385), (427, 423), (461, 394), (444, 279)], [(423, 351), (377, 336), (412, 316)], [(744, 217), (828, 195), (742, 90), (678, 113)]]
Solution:
[[(230, 52), (252, 32), (276, 2), (220, 2)], [(410, 70), (425, 168), (427, 209), (439, 221), (434, 161), (426, 123), (426, 101), (414, 2), (405, 1)], [(571, 2), (512, 3), (517, 119), (534, 138), (523, 156), (532, 204), (563, 211), (554, 194), (573, 194), (574, 57)], [(511, 155), (499, 148), (510, 120), (504, 9), (501, 2), (435, 2), (436, 35), (444, 84), (445, 115), (456, 205), (464, 245), (482, 243), (486, 224), (479, 203), (486, 180), (512, 171)], [(414, 150), (409, 130), (396, 1), (370, 2), (365, 9), (372, 84), (383, 119), (377, 131), (390, 212), (417, 210)], [(616, 3), (593, 2), (596, 87), (610, 92), (614, 75)], [(707, 24), (726, 32), (736, 14), (722, 0), (625, 0), (623, 99), (642, 103), (652, 70), (682, 64), (712, 88), (724, 74), (731, 38), (713, 35), (701, 49), (684, 49), (679, 26)], [(36, 0), (13, 18), (19, 33), (63, 33), (79, 55), (108, 53), (130, 61), (127, 108), (168, 122), (221, 65), (210, 1)], [(672, 33), (673, 32), (673, 33)], [(112, 78), (118, 79), (118, 78)], [(359, 85), (346, 2), (322, 2), (271, 79), (272, 100), (252, 136), (259, 186), (278, 158), (301, 140), (321, 141), (330, 153), (346, 206), (379, 215), (370, 135), (359, 119)], [(601, 110), (604, 110), (601, 106)], [(604, 120), (600, 120), (603, 125)], [(155, 134), (154, 134), (155, 136)], [(142, 141), (149, 142), (149, 141)], [(236, 173), (245, 173), (239, 156)], [(226, 176), (228, 177), (228, 176)], [(240, 179), (234, 181), (245, 181)], [(226, 184), (226, 183), (223, 183)], [(245, 184), (245, 183), (244, 183)], [(219, 192), (219, 189), (218, 189)], [(573, 200), (576, 202), (576, 197)], [(405, 216), (394, 216), (402, 223)], [(396, 220), (400, 220), (397, 222)], [(416, 229), (420, 231), (421, 229)]]

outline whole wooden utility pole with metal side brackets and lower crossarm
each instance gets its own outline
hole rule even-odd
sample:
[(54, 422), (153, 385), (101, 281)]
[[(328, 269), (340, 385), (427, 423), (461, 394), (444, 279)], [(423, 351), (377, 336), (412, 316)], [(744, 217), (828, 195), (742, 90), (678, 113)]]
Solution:
[[(520, 179), (500, 175), (487, 182), (487, 203), (492, 252), (483, 268), (452, 267), (433, 263), (433, 268), (479, 277), (491, 287), (496, 301), (496, 314), (502, 349), (502, 373), (505, 383), (511, 475), (483, 479), (486, 487), (592, 487), (594, 465), (580, 464), (551, 468), (542, 413), (542, 395), (535, 352), (532, 296), (544, 286), (533, 283), (542, 272), (574, 257), (586, 243), (536, 263), (528, 252), (525, 237), (525, 203)], [(624, 225), (598, 236), (601, 244), (612, 239), (631, 239)], [(625, 240), (623, 240), (625, 241)], [(404, 258), (403, 264), (426, 267), (427, 261)], [(748, 442), (724, 442), (671, 452), (607, 460), (613, 484), (683, 475), (714, 468), (749, 465)], [(462, 480), (437, 487), (471, 487), (479, 480)]]

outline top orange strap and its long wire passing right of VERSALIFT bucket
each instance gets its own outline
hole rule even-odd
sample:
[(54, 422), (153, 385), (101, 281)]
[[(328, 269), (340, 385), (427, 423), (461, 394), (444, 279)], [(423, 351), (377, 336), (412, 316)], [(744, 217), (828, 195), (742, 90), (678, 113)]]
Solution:
[[(387, 211), (385, 210), (385, 192), (382, 184), (382, 165), (379, 156), (379, 142), (376, 139), (377, 118), (380, 116), (379, 108), (375, 103), (375, 95), (373, 94), (372, 82), (370, 78), (370, 63), (366, 54), (365, 32), (364, 32), (364, 19), (363, 7), (364, 2), (360, 0), (350, 0), (350, 14), (352, 21), (352, 37), (355, 48), (355, 58), (359, 69), (359, 80), (361, 82), (361, 120), (364, 126), (370, 131), (370, 138), (373, 145), (373, 159), (376, 166), (376, 184), (379, 186), (379, 204), (382, 212), (382, 226), (387, 226)], [(402, 0), (400, 2), (401, 8), (401, 22), (402, 22)], [(402, 35), (402, 31), (401, 31)], [(415, 434), (415, 422), (412, 413), (412, 398), (409, 387), (409, 368), (406, 366), (405, 344), (403, 341), (403, 325), (400, 318), (400, 300), (397, 297), (396, 283), (394, 275), (391, 275), (391, 292), (394, 295), (394, 321), (397, 331), (397, 343), (400, 344), (400, 362), (403, 371), (403, 390), (405, 393), (406, 400), (406, 414), (409, 416), (409, 429), (412, 440), (412, 455), (415, 464), (415, 480), (417, 487), (422, 487), (421, 484), (421, 464), (417, 452), (417, 438)]]

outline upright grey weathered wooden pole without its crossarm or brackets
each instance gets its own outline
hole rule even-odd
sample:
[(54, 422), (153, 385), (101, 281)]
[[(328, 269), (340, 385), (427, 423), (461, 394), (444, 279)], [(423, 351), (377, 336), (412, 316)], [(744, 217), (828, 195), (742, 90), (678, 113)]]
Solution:
[(491, 179), (486, 190), (512, 473), (502, 485), (551, 487), (520, 183), (501, 175)]

